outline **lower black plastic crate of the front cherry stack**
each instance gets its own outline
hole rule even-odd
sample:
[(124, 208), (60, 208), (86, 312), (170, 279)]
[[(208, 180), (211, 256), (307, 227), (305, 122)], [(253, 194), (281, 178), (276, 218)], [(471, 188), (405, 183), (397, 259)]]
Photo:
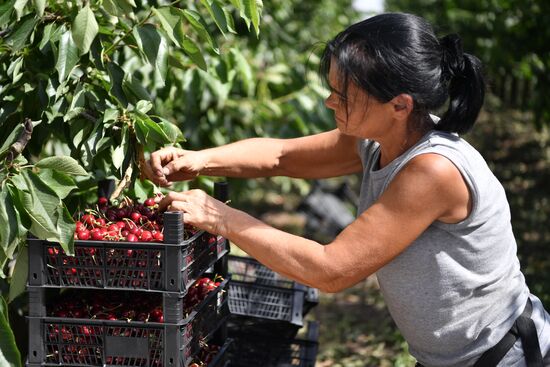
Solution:
[(227, 323), (228, 282), (225, 279), (179, 323), (46, 316), (47, 289), (29, 287), (27, 365), (186, 367)]

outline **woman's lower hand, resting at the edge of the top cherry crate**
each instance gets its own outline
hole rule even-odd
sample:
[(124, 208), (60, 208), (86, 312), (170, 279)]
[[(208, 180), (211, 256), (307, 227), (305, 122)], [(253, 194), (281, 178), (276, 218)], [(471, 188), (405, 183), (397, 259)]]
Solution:
[(181, 211), (183, 220), (209, 233), (225, 236), (231, 212), (235, 209), (202, 190), (169, 192), (159, 202), (159, 210)]

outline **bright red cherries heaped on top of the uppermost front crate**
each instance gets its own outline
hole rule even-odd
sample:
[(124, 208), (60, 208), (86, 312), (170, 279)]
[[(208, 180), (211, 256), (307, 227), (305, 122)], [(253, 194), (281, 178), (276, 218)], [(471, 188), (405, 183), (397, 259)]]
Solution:
[(100, 197), (97, 210), (86, 210), (76, 221), (75, 240), (163, 242), (162, 212), (155, 198), (143, 203), (125, 198), (110, 205)]

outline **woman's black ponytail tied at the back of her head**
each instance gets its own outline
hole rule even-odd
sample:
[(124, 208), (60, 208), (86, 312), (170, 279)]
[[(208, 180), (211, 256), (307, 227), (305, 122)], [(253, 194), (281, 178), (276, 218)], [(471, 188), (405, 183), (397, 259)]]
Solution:
[(449, 85), (449, 108), (436, 124), (440, 131), (468, 132), (474, 125), (485, 98), (485, 81), (481, 62), (463, 53), (458, 35), (440, 40), (443, 48), (441, 76)]

